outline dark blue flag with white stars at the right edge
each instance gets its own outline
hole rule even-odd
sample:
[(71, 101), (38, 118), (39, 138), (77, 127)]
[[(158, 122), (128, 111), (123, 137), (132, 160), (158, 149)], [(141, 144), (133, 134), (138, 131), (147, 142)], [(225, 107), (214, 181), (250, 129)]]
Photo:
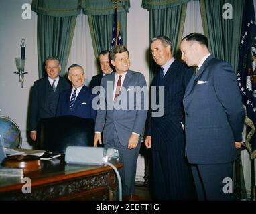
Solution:
[(247, 112), (245, 146), (253, 159), (256, 157), (256, 23), (253, 0), (245, 0), (243, 9), (237, 81)]

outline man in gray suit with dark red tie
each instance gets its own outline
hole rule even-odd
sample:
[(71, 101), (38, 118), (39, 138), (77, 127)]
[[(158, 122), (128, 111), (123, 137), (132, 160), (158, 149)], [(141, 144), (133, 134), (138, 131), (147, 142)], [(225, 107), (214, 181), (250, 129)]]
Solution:
[(97, 110), (94, 147), (97, 142), (105, 148), (115, 147), (123, 167), (120, 170), (123, 195), (133, 195), (141, 134), (147, 117), (147, 88), (143, 74), (129, 70), (129, 52), (123, 45), (110, 53), (115, 73), (101, 80), (100, 108)]

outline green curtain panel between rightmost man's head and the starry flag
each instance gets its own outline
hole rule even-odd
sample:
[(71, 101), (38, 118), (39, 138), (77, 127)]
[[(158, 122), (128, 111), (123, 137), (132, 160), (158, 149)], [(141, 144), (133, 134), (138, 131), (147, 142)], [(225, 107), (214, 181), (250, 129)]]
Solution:
[[(222, 7), (225, 3), (232, 5), (233, 19), (223, 18), (226, 9)], [(235, 72), (239, 63), (243, 4), (243, 0), (200, 0), (202, 25), (208, 37), (210, 52), (216, 58), (229, 62)]]

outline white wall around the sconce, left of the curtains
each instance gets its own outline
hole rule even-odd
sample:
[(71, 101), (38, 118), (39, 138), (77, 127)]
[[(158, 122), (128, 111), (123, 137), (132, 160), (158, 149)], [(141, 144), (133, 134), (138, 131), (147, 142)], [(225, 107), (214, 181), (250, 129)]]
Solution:
[[(9, 116), (21, 130), (23, 148), (27, 144), (27, 108), (31, 86), (38, 79), (38, 53), (36, 41), (36, 13), (31, 13), (31, 20), (23, 20), (23, 3), (31, 0), (0, 1), (0, 115)], [(26, 40), (24, 88), (21, 88), (16, 69), (15, 57), (21, 56), (20, 41)]]

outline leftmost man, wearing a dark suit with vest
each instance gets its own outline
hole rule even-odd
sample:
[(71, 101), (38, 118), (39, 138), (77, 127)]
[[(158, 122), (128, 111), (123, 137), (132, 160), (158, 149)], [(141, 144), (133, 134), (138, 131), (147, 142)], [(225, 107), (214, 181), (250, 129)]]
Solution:
[(49, 57), (45, 60), (46, 78), (34, 82), (32, 87), (30, 137), (36, 141), (36, 128), (41, 118), (51, 118), (56, 115), (58, 98), (62, 90), (70, 88), (66, 78), (59, 76), (60, 60)]

